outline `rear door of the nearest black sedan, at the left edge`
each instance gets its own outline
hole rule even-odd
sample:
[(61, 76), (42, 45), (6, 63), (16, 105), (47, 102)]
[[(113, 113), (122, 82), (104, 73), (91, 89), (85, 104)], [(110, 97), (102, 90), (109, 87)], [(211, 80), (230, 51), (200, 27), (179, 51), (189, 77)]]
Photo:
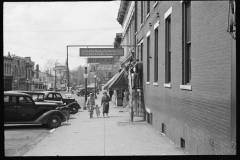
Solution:
[(4, 121), (13, 122), (17, 121), (17, 97), (4, 95)]

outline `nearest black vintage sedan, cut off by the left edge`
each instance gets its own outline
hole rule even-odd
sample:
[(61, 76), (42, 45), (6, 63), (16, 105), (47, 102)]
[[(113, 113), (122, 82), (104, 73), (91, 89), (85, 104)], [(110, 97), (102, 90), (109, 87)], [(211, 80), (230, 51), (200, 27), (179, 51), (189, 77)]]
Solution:
[(28, 94), (4, 92), (4, 124), (42, 124), (57, 128), (66, 120), (55, 103), (34, 102)]

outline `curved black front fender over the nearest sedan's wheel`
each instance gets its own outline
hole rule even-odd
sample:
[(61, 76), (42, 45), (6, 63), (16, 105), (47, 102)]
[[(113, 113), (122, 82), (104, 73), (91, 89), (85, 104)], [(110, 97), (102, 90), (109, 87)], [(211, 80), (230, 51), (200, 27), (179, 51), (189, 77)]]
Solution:
[(42, 114), (40, 117), (38, 117), (35, 122), (36, 123), (41, 123), (41, 124), (45, 124), (48, 122), (48, 118), (52, 115), (58, 115), (60, 116), (60, 118), (62, 119), (62, 122), (66, 121), (66, 117), (65, 115), (59, 111), (59, 110), (50, 110), (48, 112), (45, 112), (44, 114)]

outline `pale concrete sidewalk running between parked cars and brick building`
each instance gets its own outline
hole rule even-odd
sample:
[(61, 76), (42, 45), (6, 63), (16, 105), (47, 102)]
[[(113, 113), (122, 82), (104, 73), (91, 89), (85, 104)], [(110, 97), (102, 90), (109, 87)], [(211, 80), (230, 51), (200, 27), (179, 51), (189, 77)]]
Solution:
[[(96, 104), (101, 104), (102, 92)], [(114, 99), (114, 97), (113, 97)], [(123, 112), (119, 112), (123, 111)], [(147, 122), (130, 122), (129, 113), (110, 102), (108, 118), (93, 119), (82, 109), (23, 156), (185, 155)], [(142, 119), (142, 118), (141, 118)], [(134, 117), (134, 121), (139, 120)]]

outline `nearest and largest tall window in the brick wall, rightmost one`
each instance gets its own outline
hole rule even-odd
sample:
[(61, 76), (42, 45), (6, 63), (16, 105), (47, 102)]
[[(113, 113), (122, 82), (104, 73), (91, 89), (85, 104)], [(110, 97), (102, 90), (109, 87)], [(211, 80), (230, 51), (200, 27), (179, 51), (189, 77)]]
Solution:
[(183, 84), (191, 81), (191, 2), (183, 3)]

